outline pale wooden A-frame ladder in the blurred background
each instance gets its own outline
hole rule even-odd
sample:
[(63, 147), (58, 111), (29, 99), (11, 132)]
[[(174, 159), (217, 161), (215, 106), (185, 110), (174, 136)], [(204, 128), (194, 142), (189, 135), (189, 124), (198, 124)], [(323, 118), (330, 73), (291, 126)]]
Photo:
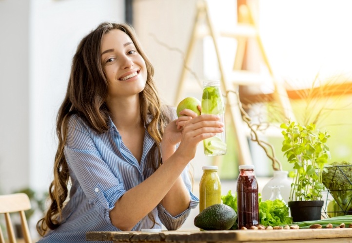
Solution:
[[(269, 64), (267, 55), (264, 51), (261, 38), (258, 34), (249, 7), (247, 5), (239, 6), (238, 23), (234, 31), (218, 33), (215, 30), (211, 17), (209, 16), (207, 2), (205, 0), (198, 0), (196, 6), (196, 17), (194, 21), (194, 26), (185, 54), (184, 66), (181, 71), (176, 91), (175, 104), (178, 104), (178, 102), (180, 102), (184, 98), (183, 96), (187, 86), (188, 88), (195, 86), (194, 82), (192, 84), (190, 79), (187, 79), (187, 71), (189, 70), (189, 67), (191, 67), (192, 64), (192, 55), (196, 46), (196, 41), (204, 38), (205, 36), (210, 36), (212, 42), (214, 43), (218, 69), (221, 76), (220, 82), (222, 92), (224, 95), (226, 95), (226, 120), (231, 119), (231, 123), (234, 127), (235, 139), (237, 141), (238, 146), (238, 163), (239, 165), (252, 164), (252, 156), (248, 143), (248, 127), (246, 127), (247, 125), (244, 124), (242, 120), (242, 115), (238, 106), (238, 98), (236, 94), (234, 92), (228, 92), (230, 90), (237, 92), (238, 87), (240, 85), (251, 86), (260, 85), (263, 83), (263, 77), (261, 77), (259, 74), (242, 69), (242, 64), (245, 57), (246, 44), (250, 38), (254, 38), (256, 40), (265, 66), (268, 68), (270, 79), (274, 84), (274, 100), (276, 100), (282, 108), (285, 117), (291, 118), (293, 120), (294, 116), (286, 89), (282, 87), (279, 82), (276, 82), (274, 78), (273, 70)], [(218, 45), (218, 40), (220, 37), (230, 37), (235, 38), (237, 40), (237, 48), (235, 53), (233, 70), (224, 69)], [(201, 84), (199, 84), (198, 82), (198, 88), (199, 87), (201, 87)], [(199, 89), (201, 90), (201, 88)], [(219, 156), (215, 156), (215, 164), (218, 163), (218, 157)]]

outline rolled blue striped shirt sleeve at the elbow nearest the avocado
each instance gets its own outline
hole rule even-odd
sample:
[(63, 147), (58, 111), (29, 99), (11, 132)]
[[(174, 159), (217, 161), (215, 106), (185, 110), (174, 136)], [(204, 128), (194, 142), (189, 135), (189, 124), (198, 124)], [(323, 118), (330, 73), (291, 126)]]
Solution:
[(187, 208), (185, 211), (181, 212), (180, 214), (178, 214), (174, 217), (161, 205), (161, 203), (157, 206), (159, 219), (160, 219), (161, 223), (168, 230), (176, 230), (179, 227), (181, 227), (183, 225), (183, 223), (186, 221), (187, 217), (189, 216), (189, 214), (191, 212), (191, 208), (196, 208), (199, 203), (199, 199), (191, 192), (192, 184), (191, 184), (191, 181), (189, 178), (189, 170), (188, 169), (189, 169), (189, 165), (187, 165), (185, 170), (183, 170), (181, 176), (182, 176), (183, 182), (185, 183), (185, 185), (191, 195), (191, 201), (190, 201), (189, 208)]

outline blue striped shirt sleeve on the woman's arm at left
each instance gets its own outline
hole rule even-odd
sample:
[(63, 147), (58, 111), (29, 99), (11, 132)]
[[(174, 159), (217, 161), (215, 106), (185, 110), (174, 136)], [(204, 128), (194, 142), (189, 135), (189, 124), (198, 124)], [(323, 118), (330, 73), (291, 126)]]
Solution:
[(103, 161), (89, 129), (73, 116), (68, 124), (64, 154), (71, 176), (78, 180), (89, 203), (111, 224), (109, 212), (125, 190), (118, 176)]

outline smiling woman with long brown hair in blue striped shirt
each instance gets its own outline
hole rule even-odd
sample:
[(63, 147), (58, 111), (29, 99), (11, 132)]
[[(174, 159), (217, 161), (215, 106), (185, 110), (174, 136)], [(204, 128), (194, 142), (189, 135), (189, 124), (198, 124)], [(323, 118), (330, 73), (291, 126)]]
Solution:
[(52, 203), (37, 224), (39, 242), (161, 224), (175, 230), (196, 207), (188, 163), (223, 124), (188, 109), (176, 119), (160, 104), (153, 74), (127, 25), (102, 23), (79, 43), (58, 113)]

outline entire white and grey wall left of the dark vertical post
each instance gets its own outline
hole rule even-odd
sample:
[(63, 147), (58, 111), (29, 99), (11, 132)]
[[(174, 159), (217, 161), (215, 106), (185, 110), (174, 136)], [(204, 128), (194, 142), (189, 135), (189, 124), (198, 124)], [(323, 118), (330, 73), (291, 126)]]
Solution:
[(124, 0), (0, 1), (0, 190), (47, 191), (55, 119), (79, 40), (124, 21)]

